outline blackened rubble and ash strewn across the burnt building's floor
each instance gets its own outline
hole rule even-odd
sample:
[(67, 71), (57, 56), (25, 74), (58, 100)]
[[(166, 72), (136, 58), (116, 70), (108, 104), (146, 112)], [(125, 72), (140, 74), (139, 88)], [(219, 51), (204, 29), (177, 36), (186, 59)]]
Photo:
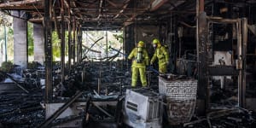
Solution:
[[(129, 127), (124, 123), (125, 90), (131, 88), (131, 69), (122, 62), (83, 62), (67, 71), (65, 82), (61, 83), (59, 67), (54, 68), (54, 101), (73, 99), (73, 95), (80, 92), (79, 100), (86, 102), (81, 107), (81, 113), (64, 119), (53, 119), (48, 125), (55, 126), (67, 123), (70, 120), (80, 119), (84, 127)], [(151, 74), (151, 75), (149, 75)], [(15, 73), (19, 75), (19, 73)], [(44, 110), (44, 68), (30, 69), (20, 74), (20, 80), (15, 75), (8, 75), (9, 79), (19, 84), (21, 91), (0, 92), (0, 127), (37, 127), (45, 122)], [(3, 75), (6, 77), (6, 75)], [(147, 72), (148, 83), (152, 92), (159, 92), (157, 74)], [(23, 80), (22, 80), (23, 78)], [(140, 85), (138, 85), (138, 88)], [(27, 92), (26, 92), (27, 90)], [(184, 128), (229, 128), (229, 127), (256, 127), (256, 114), (243, 108), (234, 108), (236, 90), (218, 90), (212, 88), (212, 107), (214, 111), (200, 117), (193, 115), (190, 122), (182, 125), (169, 125), (167, 115), (163, 113), (163, 127)], [(223, 97), (224, 101), (218, 100)], [(75, 100), (75, 99), (73, 99)], [(64, 100), (65, 101), (65, 100)], [(67, 100), (66, 100), (67, 101)], [(94, 102), (117, 102), (116, 105), (99, 106)], [(236, 99), (235, 99), (236, 101)], [(66, 102), (67, 103), (67, 102)], [(72, 103), (72, 102), (69, 102)], [(227, 104), (228, 103), (228, 104)], [(164, 109), (166, 104), (164, 104)], [(134, 104), (130, 104), (134, 107)], [(221, 105), (221, 108), (219, 108)], [(231, 107), (232, 106), (232, 107)], [(44, 124), (44, 123), (43, 123)]]

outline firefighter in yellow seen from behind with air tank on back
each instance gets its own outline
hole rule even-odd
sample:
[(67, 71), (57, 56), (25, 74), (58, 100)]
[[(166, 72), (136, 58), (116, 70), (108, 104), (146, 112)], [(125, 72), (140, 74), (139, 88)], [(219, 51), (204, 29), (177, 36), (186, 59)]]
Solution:
[(146, 49), (144, 49), (143, 41), (139, 41), (137, 48), (132, 49), (128, 59), (133, 59), (131, 65), (131, 86), (135, 87), (137, 85), (138, 73), (140, 73), (140, 79), (143, 87), (147, 86), (146, 66), (148, 66), (148, 52)]

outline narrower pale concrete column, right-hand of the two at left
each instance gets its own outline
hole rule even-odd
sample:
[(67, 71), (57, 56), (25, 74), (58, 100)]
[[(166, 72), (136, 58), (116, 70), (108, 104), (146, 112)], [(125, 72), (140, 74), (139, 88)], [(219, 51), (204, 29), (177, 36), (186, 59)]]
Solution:
[(44, 65), (44, 28), (42, 25), (33, 24), (34, 61)]

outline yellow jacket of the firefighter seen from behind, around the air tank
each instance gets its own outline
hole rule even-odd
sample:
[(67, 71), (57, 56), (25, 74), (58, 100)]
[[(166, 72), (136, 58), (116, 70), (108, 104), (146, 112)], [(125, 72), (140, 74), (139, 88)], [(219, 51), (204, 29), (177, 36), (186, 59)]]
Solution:
[(132, 49), (130, 55), (128, 55), (129, 60), (133, 59), (131, 67), (145, 67), (145, 66), (148, 66), (148, 52), (147, 52), (147, 50), (143, 49), (143, 62), (142, 63), (137, 63), (137, 61), (136, 61), (137, 49), (138, 48)]

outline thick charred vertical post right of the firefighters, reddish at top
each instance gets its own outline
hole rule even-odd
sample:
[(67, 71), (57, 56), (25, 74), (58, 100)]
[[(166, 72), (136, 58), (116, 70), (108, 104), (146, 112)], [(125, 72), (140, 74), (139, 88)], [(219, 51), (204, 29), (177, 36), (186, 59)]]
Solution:
[(198, 90), (197, 96), (205, 101), (206, 110), (208, 108), (209, 90), (207, 89), (207, 14), (204, 12), (203, 0), (196, 1), (196, 51), (198, 61)]

